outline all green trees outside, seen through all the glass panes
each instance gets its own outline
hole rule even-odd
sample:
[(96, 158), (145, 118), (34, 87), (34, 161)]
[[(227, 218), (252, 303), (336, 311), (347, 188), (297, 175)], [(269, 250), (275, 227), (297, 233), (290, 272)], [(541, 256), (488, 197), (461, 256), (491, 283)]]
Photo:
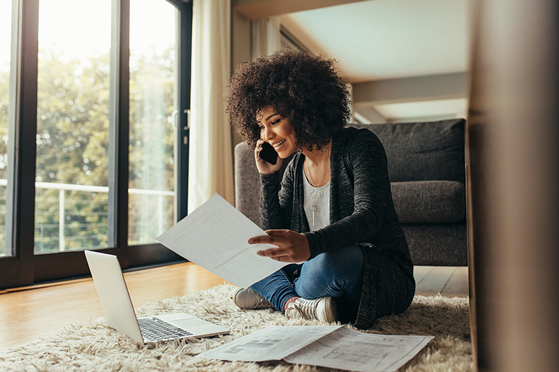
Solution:
[[(129, 188), (173, 191), (174, 48), (131, 59)], [(39, 52), (36, 181), (108, 186), (110, 56), (68, 59)], [(0, 71), (0, 179), (6, 179), (9, 74)], [(59, 190), (36, 188), (35, 251), (59, 250)], [(65, 191), (66, 250), (108, 245), (108, 194)], [(6, 187), (0, 187), (0, 223)], [(164, 228), (174, 223), (173, 197), (163, 197)], [(159, 197), (129, 195), (129, 244), (154, 242)], [(4, 232), (0, 230), (0, 255)]]

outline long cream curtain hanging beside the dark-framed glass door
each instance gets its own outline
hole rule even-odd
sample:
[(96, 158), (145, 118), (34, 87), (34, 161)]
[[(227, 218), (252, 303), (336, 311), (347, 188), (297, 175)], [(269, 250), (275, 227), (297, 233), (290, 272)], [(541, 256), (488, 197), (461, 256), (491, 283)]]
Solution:
[(231, 0), (194, 1), (188, 210), (219, 193), (234, 205), (231, 129), (223, 96), (231, 74)]

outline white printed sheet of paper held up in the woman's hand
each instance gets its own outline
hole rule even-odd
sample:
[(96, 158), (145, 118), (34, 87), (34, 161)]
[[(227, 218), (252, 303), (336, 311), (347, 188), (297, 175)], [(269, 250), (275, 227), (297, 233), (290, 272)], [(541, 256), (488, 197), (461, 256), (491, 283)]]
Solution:
[(248, 288), (287, 265), (256, 255), (275, 248), (247, 243), (261, 235), (266, 232), (216, 193), (156, 239), (226, 281)]

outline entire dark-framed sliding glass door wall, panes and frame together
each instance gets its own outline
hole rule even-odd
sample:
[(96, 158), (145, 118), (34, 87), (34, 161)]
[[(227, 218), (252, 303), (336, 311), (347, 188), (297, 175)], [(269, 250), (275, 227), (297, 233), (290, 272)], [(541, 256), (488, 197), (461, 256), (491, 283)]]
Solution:
[[(11, 14), (11, 15), (10, 15)], [(0, 1), (0, 289), (180, 260), (192, 2)], [(179, 140), (180, 138), (180, 140)]]

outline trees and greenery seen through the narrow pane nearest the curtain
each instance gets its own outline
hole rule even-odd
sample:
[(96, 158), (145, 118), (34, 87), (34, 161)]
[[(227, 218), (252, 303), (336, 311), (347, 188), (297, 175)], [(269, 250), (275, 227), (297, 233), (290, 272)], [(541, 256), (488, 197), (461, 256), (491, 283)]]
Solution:
[[(174, 191), (173, 94), (175, 50), (152, 50), (150, 57), (131, 54), (129, 187)], [(161, 177), (161, 175), (165, 175)], [(129, 195), (129, 244), (154, 242), (174, 219), (174, 198)], [(161, 205), (159, 203), (161, 202)], [(164, 209), (164, 220), (154, 215)]]

